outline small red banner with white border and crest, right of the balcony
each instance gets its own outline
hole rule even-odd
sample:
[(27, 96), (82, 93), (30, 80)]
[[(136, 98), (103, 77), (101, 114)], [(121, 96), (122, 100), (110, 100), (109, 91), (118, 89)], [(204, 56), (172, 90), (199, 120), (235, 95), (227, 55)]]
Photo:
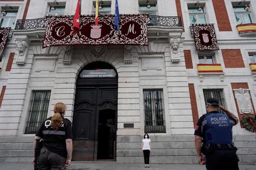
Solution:
[(219, 50), (213, 24), (192, 25), (195, 49), (197, 50)]

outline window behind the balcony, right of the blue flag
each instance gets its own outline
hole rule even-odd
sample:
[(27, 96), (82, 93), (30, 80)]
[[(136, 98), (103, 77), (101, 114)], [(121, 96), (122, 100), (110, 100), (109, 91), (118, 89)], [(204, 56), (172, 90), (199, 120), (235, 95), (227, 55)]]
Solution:
[(156, 2), (140, 2), (139, 13), (157, 15)]

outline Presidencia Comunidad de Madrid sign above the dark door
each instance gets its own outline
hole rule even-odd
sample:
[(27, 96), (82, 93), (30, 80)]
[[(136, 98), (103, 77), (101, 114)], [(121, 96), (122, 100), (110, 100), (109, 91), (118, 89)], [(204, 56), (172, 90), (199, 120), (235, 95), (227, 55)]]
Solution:
[(111, 69), (83, 70), (80, 78), (114, 78), (116, 71)]

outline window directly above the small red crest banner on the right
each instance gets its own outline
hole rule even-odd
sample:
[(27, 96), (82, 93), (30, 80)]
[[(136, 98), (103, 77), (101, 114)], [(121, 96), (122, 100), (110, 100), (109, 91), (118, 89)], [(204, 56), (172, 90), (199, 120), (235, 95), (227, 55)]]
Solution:
[(188, 7), (189, 20), (191, 24), (207, 23), (203, 7)]

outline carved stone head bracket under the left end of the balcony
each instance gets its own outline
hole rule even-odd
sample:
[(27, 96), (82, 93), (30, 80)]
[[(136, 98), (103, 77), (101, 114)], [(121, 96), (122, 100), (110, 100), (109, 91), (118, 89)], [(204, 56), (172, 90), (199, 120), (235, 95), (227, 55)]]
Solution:
[(16, 39), (16, 49), (18, 51), (18, 56), (16, 63), (17, 65), (25, 65), (25, 60), (27, 58), (29, 41), (28, 39)]

